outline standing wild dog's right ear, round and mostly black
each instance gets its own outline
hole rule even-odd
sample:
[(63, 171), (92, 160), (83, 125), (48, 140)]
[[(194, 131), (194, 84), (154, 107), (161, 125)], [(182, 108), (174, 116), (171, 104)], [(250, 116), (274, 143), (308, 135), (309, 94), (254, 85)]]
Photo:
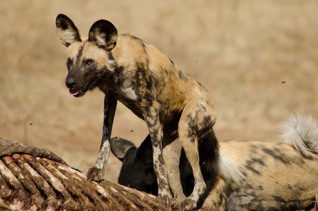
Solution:
[(99, 20), (89, 30), (88, 41), (110, 51), (116, 46), (117, 35), (117, 29), (112, 23), (107, 20)]

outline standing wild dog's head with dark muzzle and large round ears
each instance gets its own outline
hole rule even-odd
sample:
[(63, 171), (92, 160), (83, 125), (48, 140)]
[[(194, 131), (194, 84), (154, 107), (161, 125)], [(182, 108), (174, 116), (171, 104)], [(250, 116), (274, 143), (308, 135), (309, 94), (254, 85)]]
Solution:
[(99, 20), (89, 30), (88, 39), (81, 38), (73, 21), (63, 14), (57, 16), (56, 28), (67, 47), (66, 86), (73, 96), (83, 96), (111, 73), (107, 59), (116, 46), (117, 29), (109, 21)]

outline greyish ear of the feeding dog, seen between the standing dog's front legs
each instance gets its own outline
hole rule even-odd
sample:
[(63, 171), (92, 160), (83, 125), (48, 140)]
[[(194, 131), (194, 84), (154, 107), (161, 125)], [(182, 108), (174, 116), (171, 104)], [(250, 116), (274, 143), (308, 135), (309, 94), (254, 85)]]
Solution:
[(110, 139), (110, 150), (120, 161), (124, 160), (126, 156), (137, 150), (135, 144), (126, 139), (114, 137)]

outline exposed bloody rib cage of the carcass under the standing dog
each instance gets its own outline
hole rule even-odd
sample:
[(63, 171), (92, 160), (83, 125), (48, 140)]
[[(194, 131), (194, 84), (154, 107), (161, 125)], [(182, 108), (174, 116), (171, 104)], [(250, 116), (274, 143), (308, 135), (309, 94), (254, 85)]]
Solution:
[[(0, 138), (1, 141), (5, 141)], [(2, 145), (3, 146), (3, 145)], [(1, 151), (1, 147), (0, 147)], [(156, 197), (25, 154), (0, 160), (0, 210), (164, 210)]]

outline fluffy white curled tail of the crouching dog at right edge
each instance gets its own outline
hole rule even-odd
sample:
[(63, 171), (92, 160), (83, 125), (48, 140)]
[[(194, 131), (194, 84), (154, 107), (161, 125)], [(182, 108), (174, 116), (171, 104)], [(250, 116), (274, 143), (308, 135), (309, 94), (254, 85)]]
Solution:
[(281, 138), (299, 152), (315, 151), (318, 153), (318, 127), (312, 116), (292, 114), (281, 125)]

